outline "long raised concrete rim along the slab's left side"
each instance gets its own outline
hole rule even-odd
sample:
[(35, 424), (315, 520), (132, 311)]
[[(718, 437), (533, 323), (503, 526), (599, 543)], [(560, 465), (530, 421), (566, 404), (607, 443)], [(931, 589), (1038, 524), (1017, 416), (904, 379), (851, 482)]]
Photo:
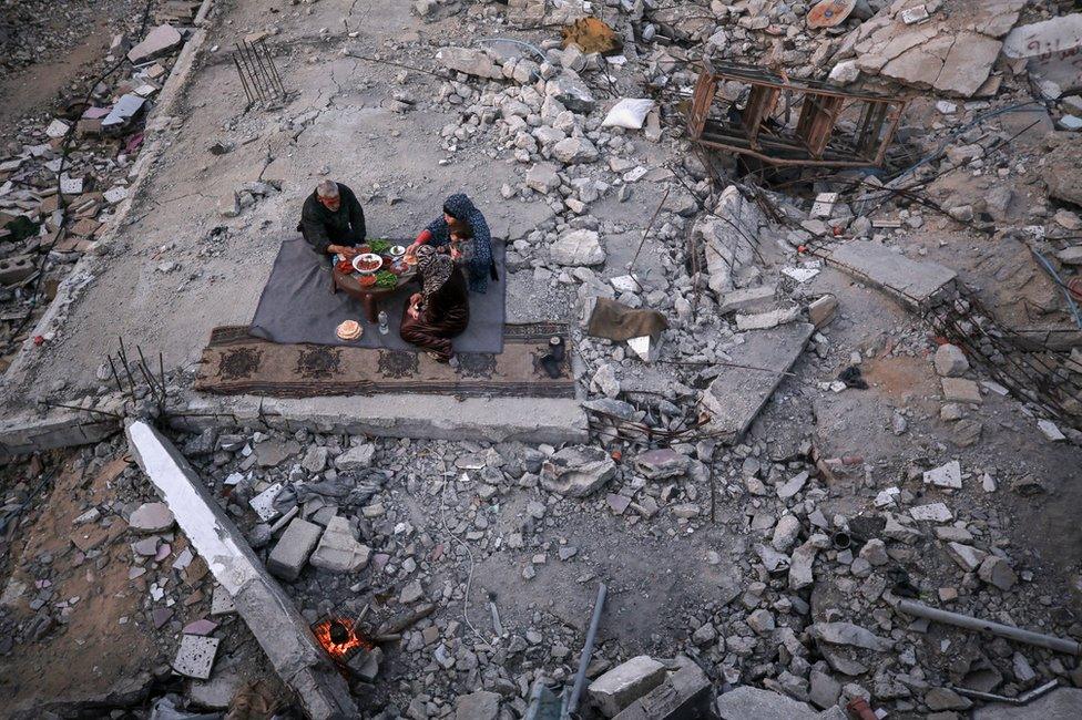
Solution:
[[(165, 84), (162, 85), (162, 92), (157, 96), (157, 102), (154, 107), (151, 109), (150, 114), (146, 117), (146, 127), (151, 127), (154, 121), (159, 119), (169, 117), (169, 113), (174, 110), (176, 104), (181, 101), (183, 93), (187, 90), (192, 71), (195, 66), (195, 60), (198, 56), (200, 51), (203, 49), (203, 43), (206, 41), (207, 37), (207, 22), (206, 18), (211, 12), (211, 9), (215, 0), (203, 0), (200, 9), (195, 17), (195, 30), (192, 32), (192, 37), (184, 48), (181, 50), (180, 55), (176, 58), (176, 62), (173, 64), (173, 70), (170, 72), (170, 76), (165, 80)], [(30, 370), (30, 366), (37, 357), (34, 349), (37, 346), (33, 343), (33, 339), (37, 336), (44, 336), (49, 332), (50, 327), (59, 328), (61, 322), (67, 318), (68, 309), (79, 299), (81, 291), (94, 280), (94, 270), (102, 263), (102, 258), (98, 254), (98, 248), (104, 248), (116, 241), (118, 236), (121, 233), (121, 228), (127, 223), (129, 216), (132, 214), (132, 208), (135, 205), (136, 199), (142, 199), (143, 187), (149, 182), (150, 177), (153, 175), (151, 167), (157, 161), (162, 153), (162, 150), (167, 146), (167, 143), (163, 142), (165, 136), (172, 135), (172, 132), (159, 132), (157, 136), (154, 137), (150, 145), (143, 148), (139, 154), (139, 158), (133, 164), (133, 169), (139, 168), (135, 173), (135, 179), (129, 185), (127, 197), (120, 203), (116, 207), (116, 214), (113, 216), (112, 225), (110, 229), (98, 240), (94, 241), (94, 249), (90, 253), (83, 255), (75, 266), (71, 269), (67, 277), (60, 282), (60, 287), (57, 289), (57, 296), (53, 298), (52, 302), (49, 304), (49, 308), (41, 316), (37, 323), (34, 323), (33, 329), (27, 336), (25, 341), (22, 343), (19, 352), (16, 354), (11, 362), (11, 367), (8, 371), (0, 377), (0, 391), (6, 388), (10, 388), (13, 384), (18, 384), (17, 380), (21, 380)], [(10, 399), (3, 399), (3, 402), (9, 402)]]

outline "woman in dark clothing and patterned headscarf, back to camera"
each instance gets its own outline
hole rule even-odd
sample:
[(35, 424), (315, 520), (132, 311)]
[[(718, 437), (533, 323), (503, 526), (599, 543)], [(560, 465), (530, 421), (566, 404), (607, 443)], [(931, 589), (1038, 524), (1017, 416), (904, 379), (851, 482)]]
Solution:
[(449, 255), (437, 253), (430, 245), (418, 247), (416, 255), (421, 291), (406, 304), (401, 337), (428, 350), (438, 362), (449, 362), (453, 354), (451, 338), (466, 330), (470, 321), (466, 278)]

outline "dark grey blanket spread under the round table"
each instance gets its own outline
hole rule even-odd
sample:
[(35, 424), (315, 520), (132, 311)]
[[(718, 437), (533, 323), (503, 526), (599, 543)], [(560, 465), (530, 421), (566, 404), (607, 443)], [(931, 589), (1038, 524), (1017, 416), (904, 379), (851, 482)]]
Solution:
[[(490, 279), (484, 295), (470, 294), (470, 325), (453, 340), (457, 352), (503, 351), (504, 256), (503, 245), (492, 243), (500, 279)], [(360, 300), (341, 290), (331, 292), (330, 257), (319, 257), (304, 238), (290, 237), (282, 243), (248, 331), (270, 342), (410, 350), (414, 346), (399, 337), (398, 328), (406, 300), (417, 289), (410, 284), (380, 299), (379, 309), (387, 312), (390, 325), (390, 332), (380, 335), (378, 325), (365, 318)], [(336, 329), (344, 320), (357, 320), (365, 327), (359, 340), (338, 339)]]

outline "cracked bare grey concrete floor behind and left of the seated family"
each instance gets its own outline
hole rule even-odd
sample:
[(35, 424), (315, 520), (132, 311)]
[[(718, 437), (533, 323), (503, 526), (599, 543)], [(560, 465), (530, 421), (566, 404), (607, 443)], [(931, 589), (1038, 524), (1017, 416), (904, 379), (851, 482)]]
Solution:
[[(294, 232), (304, 198), (324, 177), (341, 179), (358, 193), (375, 236), (412, 237), (439, 214), (448, 194), (461, 191), (498, 234), (521, 236), (551, 216), (543, 203), (500, 197), (500, 186), (519, 172), (513, 165), (481, 152), (440, 165), (446, 153), (439, 131), (458, 119), (384, 109), (399, 71), (338, 53), (348, 44), (370, 54), (378, 52), (381, 38), (404, 30), (419, 33), (423, 25), (410, 16), (408, 3), (381, 7), (379, 13), (348, 1), (289, 10), (304, 14), (284, 18), (272, 44), (290, 94), (279, 109), (244, 112), (243, 89), (227, 52), (238, 34), (264, 25), (272, 6), (224, 8), (226, 16), (215, 20), (206, 45), (220, 50), (196, 62), (171, 120), (175, 134), (146, 193), (133, 205), (131, 224), (121, 229), (55, 339), (33, 352), (21, 372), (9, 373), (7, 407), (94, 388), (98, 366), (115, 350), (118, 337), (129, 347), (161, 351), (167, 368), (191, 368), (214, 327), (252, 318), (280, 238)], [(337, 32), (343, 22), (359, 35), (319, 34), (321, 27)], [(435, 93), (439, 82), (410, 73), (407, 88), (423, 96)], [(215, 141), (231, 141), (235, 148), (212, 155), (207, 147)], [(283, 191), (239, 217), (218, 214), (220, 197), (258, 179), (278, 181)], [(163, 271), (170, 264), (175, 267)]]

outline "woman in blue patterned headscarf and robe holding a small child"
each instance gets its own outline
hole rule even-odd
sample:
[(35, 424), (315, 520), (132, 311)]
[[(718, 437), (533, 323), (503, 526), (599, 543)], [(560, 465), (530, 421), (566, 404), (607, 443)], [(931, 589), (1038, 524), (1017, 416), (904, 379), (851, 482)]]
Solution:
[(469, 278), (470, 291), (484, 292), (489, 275), (497, 279), (492, 264), (492, 235), (481, 210), (466, 195), (451, 195), (443, 203), (443, 217), (429, 224), (410, 246), (446, 248), (460, 263)]

